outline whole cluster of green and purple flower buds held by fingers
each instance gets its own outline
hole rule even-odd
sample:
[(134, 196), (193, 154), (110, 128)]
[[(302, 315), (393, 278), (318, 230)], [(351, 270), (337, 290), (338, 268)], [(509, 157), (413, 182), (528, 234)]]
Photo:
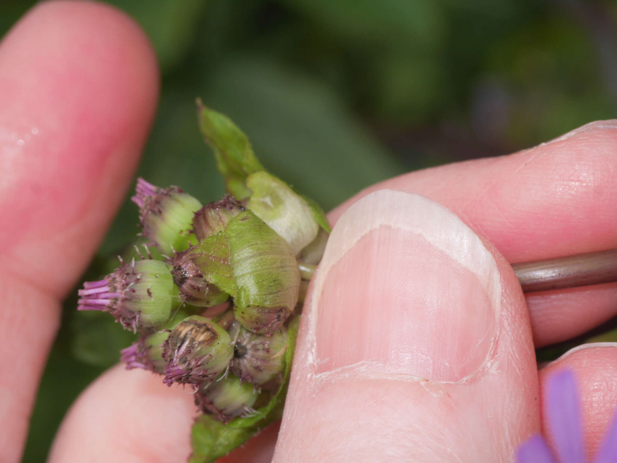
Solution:
[(223, 422), (251, 414), (280, 384), (297, 256), (319, 230), (304, 199), (265, 171), (246, 188), (242, 200), (202, 207), (178, 187), (138, 179), (141, 235), (166, 260), (121, 263), (79, 291), (78, 309), (107, 311), (141, 333), (121, 352), (127, 369), (193, 387), (199, 409)]

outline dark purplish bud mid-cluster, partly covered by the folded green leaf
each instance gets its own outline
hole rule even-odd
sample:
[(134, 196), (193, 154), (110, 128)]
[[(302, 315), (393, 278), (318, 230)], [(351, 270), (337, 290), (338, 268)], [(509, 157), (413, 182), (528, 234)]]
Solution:
[(229, 298), (229, 295), (205, 280), (204, 274), (193, 261), (193, 258), (198, 256), (199, 254), (191, 248), (174, 256), (172, 260), (173, 282), (180, 289), (182, 299), (186, 303), (198, 307), (222, 304)]

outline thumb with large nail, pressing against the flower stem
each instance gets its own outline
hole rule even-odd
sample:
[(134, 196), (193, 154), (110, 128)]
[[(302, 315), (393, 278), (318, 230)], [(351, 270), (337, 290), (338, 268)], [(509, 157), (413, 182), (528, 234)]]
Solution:
[(352, 205), (302, 318), (275, 463), (505, 462), (539, 430), (515, 274), (436, 202)]

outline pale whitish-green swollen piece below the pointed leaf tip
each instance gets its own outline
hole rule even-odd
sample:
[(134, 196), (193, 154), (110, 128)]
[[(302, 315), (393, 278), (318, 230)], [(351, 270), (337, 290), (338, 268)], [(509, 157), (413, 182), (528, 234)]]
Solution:
[(317, 237), (320, 226), (312, 208), (285, 182), (260, 171), (246, 184), (252, 191), (247, 207), (288, 242), (294, 256)]

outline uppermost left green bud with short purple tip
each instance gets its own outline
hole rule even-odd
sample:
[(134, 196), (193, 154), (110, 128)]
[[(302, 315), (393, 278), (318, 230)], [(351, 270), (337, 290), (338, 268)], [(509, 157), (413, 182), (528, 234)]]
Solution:
[(139, 206), (142, 235), (152, 240), (160, 252), (172, 255), (196, 244), (192, 224), (195, 211), (202, 207), (199, 200), (178, 187), (159, 188), (143, 178), (137, 179), (131, 200)]

